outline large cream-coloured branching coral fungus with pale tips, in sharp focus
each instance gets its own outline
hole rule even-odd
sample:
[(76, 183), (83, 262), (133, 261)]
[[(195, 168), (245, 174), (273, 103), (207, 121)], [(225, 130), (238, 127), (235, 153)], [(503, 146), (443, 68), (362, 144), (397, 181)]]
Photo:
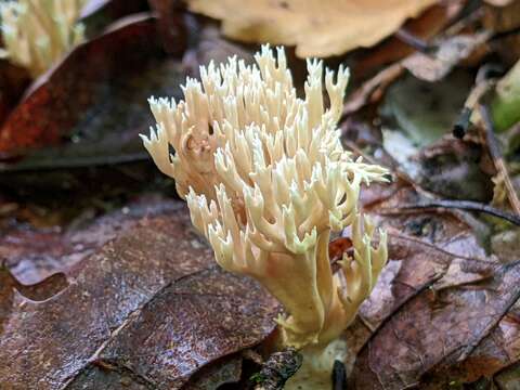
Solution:
[[(326, 346), (352, 322), (387, 260), (386, 235), (358, 210), (360, 185), (386, 170), (353, 160), (340, 143), (348, 70), (308, 61), (297, 96), (284, 50), (256, 65), (235, 57), (187, 79), (184, 101), (152, 98), (157, 128), (144, 145), (176, 179), (194, 225), (225, 270), (255, 277), (284, 306), (285, 344)], [(176, 151), (170, 154), (170, 146)], [(352, 226), (353, 258), (333, 273), (332, 231)]]

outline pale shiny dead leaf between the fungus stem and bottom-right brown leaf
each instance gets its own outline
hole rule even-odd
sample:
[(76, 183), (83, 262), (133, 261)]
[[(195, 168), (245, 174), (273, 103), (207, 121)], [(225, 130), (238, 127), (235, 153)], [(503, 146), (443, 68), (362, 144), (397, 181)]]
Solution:
[[(486, 281), (490, 274), (493, 274), (493, 266), (496, 266), (496, 263), (482, 262), (478, 258), (458, 257), (393, 229), (389, 229), (388, 250), (388, 264), (370, 297), (363, 302), (358, 321), (344, 335), (351, 351), (346, 362), (349, 372), (355, 363), (352, 356), (355, 356), (366, 342), (378, 335), (387, 321), (401, 312), (402, 308), (416, 296), (432, 291), (433, 287), (441, 290), (464, 283)], [(428, 324), (424, 326), (427, 327)]]

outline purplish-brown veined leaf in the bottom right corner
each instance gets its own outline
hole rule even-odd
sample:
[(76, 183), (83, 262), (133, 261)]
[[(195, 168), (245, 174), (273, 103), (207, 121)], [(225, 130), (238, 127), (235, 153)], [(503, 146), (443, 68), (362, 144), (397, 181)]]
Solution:
[(460, 379), (473, 381), (517, 361), (519, 349), (496, 356), (487, 354), (483, 344), (508, 349), (507, 340), (493, 338), (492, 333), (520, 296), (520, 263), (494, 271), (489, 282), (473, 288), (459, 286), (435, 292), (433, 286), (407, 301), (365, 344), (353, 370), (353, 388), (427, 388), (433, 381), (438, 385), (439, 376), (442, 385), (448, 386), (446, 369), (460, 364), (472, 366), (472, 370), (463, 370)]

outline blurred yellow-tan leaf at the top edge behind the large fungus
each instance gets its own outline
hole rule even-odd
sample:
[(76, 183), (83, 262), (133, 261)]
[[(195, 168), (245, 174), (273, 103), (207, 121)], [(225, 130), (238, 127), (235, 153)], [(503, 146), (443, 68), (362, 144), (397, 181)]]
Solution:
[(329, 56), (370, 47), (437, 0), (188, 0), (246, 42), (296, 46), (298, 56)]

